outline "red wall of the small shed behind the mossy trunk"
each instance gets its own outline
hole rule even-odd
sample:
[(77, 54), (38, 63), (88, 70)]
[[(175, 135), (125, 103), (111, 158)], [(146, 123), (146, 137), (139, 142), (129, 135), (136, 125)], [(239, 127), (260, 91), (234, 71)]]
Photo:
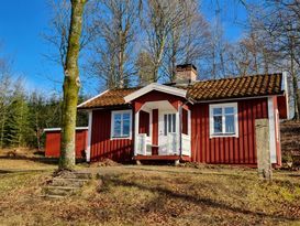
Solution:
[[(76, 158), (85, 158), (87, 150), (88, 130), (76, 131)], [(59, 158), (60, 155), (60, 130), (46, 131), (45, 157)]]

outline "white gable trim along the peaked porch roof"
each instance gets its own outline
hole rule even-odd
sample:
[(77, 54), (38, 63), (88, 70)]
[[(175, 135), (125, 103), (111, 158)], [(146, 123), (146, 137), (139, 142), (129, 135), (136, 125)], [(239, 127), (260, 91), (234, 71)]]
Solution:
[(165, 85), (160, 85), (157, 83), (152, 83), (127, 96), (124, 97), (125, 103), (130, 103), (134, 99), (136, 99), (137, 97), (141, 97), (152, 90), (157, 90), (157, 92), (162, 92), (162, 93), (166, 93), (166, 94), (170, 94), (170, 95), (175, 95), (175, 96), (179, 96), (179, 97), (187, 97), (187, 90), (184, 89), (179, 89), (179, 88), (175, 88), (175, 87), (170, 87), (170, 86), (165, 86)]

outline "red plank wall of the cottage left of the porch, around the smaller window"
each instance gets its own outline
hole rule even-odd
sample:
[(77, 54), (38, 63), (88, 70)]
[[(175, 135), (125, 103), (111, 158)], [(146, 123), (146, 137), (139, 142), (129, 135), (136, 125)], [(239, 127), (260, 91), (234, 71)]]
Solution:
[[(133, 129), (134, 127), (132, 127)], [(133, 133), (133, 132), (132, 132)], [(133, 153), (132, 139), (110, 139), (111, 110), (92, 111), (91, 161), (110, 158), (116, 162), (131, 161)]]

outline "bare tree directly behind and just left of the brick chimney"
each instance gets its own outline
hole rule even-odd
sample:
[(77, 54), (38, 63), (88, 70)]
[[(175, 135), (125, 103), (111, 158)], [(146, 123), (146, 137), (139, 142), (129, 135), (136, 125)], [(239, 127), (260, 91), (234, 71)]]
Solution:
[(175, 24), (166, 44), (163, 72), (169, 80), (176, 79), (176, 65), (197, 63), (208, 56), (209, 25), (195, 1), (186, 1), (182, 22)]

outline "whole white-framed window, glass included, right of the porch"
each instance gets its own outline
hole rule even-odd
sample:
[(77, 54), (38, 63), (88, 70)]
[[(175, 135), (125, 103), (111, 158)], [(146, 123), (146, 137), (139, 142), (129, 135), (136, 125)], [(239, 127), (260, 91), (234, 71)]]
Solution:
[(236, 103), (210, 105), (210, 137), (238, 137)]

